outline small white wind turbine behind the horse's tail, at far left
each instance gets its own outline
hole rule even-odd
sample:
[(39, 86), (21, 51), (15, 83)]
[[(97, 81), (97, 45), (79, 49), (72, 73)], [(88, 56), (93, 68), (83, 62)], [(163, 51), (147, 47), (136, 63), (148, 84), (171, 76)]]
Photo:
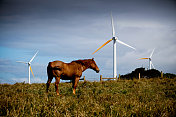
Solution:
[[(17, 61), (18, 63), (24, 63), (24, 64), (27, 64), (28, 65), (28, 70), (29, 70), (29, 84), (31, 84), (30, 82), (30, 71), (32, 72), (32, 68), (31, 68), (31, 62), (34, 60), (35, 56), (37, 55), (38, 51), (34, 54), (34, 56), (31, 58), (31, 60), (29, 62), (23, 62), (23, 61)], [(32, 72), (32, 75), (34, 77), (34, 73)], [(35, 78), (35, 77), (34, 77)]]

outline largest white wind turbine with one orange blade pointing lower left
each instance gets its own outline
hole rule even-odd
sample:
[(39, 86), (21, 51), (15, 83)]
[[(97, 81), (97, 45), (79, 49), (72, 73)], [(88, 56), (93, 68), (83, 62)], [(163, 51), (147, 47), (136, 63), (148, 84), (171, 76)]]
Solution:
[[(114, 29), (114, 22), (113, 22), (113, 17), (111, 14), (111, 25), (112, 25), (112, 38), (110, 40), (108, 40), (106, 43), (104, 43), (101, 47), (99, 47), (94, 53), (96, 53), (98, 50), (100, 50), (102, 47), (104, 47), (106, 44), (108, 44), (109, 42), (113, 41), (113, 77), (116, 78), (117, 77), (117, 66), (116, 66), (116, 42), (125, 45), (127, 47), (130, 47), (134, 50), (136, 50), (134, 47), (120, 41), (118, 39), (117, 36), (115, 36), (115, 29)], [(94, 54), (92, 53), (92, 54)]]

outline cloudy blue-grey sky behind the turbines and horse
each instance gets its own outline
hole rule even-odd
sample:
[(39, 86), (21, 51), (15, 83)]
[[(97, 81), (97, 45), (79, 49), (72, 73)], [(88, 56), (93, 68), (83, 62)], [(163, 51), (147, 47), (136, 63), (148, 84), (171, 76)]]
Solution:
[[(175, 0), (1, 0), (0, 83), (28, 82), (28, 67), (16, 61), (32, 61), (32, 83), (46, 83), (48, 62), (94, 58), (100, 73), (88, 69), (86, 80), (112, 77), (111, 13), (119, 40), (117, 74), (148, 68), (152, 50), (155, 68), (176, 74)], [(54, 82), (55, 80), (53, 80)], [(64, 81), (61, 81), (64, 82)]]

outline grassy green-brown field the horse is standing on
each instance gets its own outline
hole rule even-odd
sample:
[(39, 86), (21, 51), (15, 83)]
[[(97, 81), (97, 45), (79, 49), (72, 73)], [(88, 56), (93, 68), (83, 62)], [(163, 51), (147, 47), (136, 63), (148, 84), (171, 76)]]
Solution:
[(176, 78), (80, 82), (76, 95), (61, 83), (0, 84), (0, 116), (176, 116)]

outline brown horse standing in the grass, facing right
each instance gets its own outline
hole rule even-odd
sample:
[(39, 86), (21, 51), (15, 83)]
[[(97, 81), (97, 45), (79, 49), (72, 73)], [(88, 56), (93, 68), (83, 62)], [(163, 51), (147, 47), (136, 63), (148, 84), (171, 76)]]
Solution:
[(93, 58), (85, 60), (76, 60), (72, 61), (71, 63), (64, 63), (62, 61), (49, 62), (47, 67), (48, 81), (46, 83), (46, 91), (48, 92), (50, 83), (53, 77), (55, 77), (55, 89), (57, 95), (59, 95), (58, 84), (60, 82), (60, 79), (72, 80), (73, 94), (75, 94), (75, 90), (78, 81), (82, 76), (82, 72), (84, 72), (88, 68), (93, 69), (97, 73), (100, 71)]

